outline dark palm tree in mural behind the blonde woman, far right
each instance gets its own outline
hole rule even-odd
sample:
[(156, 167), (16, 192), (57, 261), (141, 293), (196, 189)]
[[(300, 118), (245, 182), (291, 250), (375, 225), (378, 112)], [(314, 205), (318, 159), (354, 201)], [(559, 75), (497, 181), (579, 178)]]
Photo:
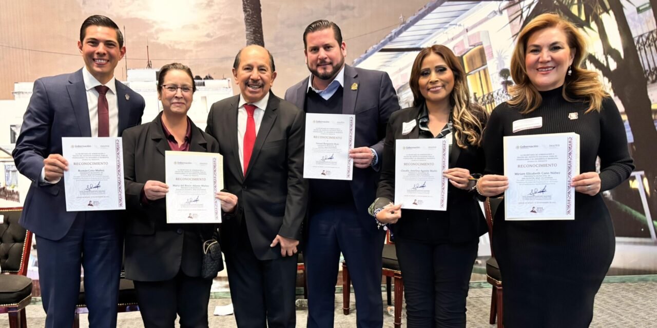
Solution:
[[(650, 3), (657, 1), (651, 0)], [(587, 62), (611, 83), (614, 94), (618, 96), (625, 115), (629, 121), (634, 142), (632, 156), (637, 170), (645, 171), (648, 188), (655, 190), (657, 165), (654, 165), (654, 154), (657, 154), (657, 130), (652, 117), (652, 102), (648, 96), (647, 80), (639, 59), (639, 52), (634, 43), (623, 5), (620, 0), (539, 0), (526, 7), (518, 8), (518, 15), (513, 20), (520, 20), (522, 26), (543, 12), (558, 12), (567, 17), (580, 28), (597, 33), (602, 43), (602, 53), (589, 54)], [(507, 7), (518, 6), (514, 2)], [(657, 10), (657, 7), (652, 7)], [(620, 48), (616, 49), (610, 42), (603, 19), (616, 20), (616, 28), (620, 35)], [(512, 20), (512, 21), (513, 21)], [(613, 31), (615, 33), (616, 31)], [(613, 136), (610, 136), (613, 138)], [(604, 147), (604, 145), (601, 145)], [(657, 195), (648, 192), (648, 205), (653, 216), (657, 214)]]

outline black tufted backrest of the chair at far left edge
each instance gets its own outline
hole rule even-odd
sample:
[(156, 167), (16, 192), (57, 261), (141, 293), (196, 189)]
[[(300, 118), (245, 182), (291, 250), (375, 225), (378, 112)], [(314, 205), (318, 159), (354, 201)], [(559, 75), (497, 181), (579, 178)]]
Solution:
[(0, 268), (3, 274), (28, 274), (32, 233), (18, 224), (21, 207), (0, 209)]

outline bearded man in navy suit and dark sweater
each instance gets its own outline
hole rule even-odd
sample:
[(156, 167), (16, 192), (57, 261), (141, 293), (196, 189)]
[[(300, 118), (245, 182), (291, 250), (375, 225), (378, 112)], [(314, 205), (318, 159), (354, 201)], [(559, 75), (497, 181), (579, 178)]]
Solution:
[(356, 169), (353, 180), (309, 181), (307, 241), (307, 327), (333, 327), (335, 284), (340, 252), (356, 292), (358, 327), (381, 327), (381, 252), (385, 232), (367, 213), (374, 201), (388, 117), (399, 110), (387, 73), (344, 64), (347, 54), (340, 28), (317, 20), (304, 31), (311, 74), (290, 87), (285, 99), (306, 113), (354, 114)]

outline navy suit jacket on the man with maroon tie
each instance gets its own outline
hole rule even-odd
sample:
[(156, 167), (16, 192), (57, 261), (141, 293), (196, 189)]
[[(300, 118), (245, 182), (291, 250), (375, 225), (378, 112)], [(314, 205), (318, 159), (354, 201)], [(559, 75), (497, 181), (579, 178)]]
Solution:
[[(116, 81), (119, 110), (118, 135), (141, 124), (144, 98)], [(12, 152), (18, 172), (32, 180), (23, 205), (20, 225), (40, 237), (59, 240), (66, 236), (78, 212), (66, 212), (64, 179), (57, 184), (40, 182), (43, 159), (62, 154), (62, 137), (91, 136), (89, 106), (82, 70), (34, 81), (30, 104)], [(101, 211), (97, 215), (116, 215)]]

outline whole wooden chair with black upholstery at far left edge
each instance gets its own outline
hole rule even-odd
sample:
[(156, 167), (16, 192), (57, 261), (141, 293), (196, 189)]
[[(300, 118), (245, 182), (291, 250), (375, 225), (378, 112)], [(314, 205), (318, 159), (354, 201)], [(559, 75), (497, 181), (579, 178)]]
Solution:
[(25, 308), (32, 300), (32, 279), (27, 277), (32, 233), (18, 219), (21, 207), (0, 210), (0, 314), (9, 314), (10, 328), (27, 328)]

